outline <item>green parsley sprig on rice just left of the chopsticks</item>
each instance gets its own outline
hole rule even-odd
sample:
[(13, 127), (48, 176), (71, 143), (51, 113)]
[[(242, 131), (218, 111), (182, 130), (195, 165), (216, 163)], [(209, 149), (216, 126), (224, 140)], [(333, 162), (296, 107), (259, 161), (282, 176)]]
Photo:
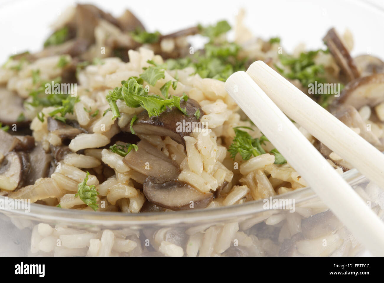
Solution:
[[(240, 130), (240, 128), (252, 130), (250, 127), (233, 128), (235, 131), (235, 137), (233, 138), (233, 142), (228, 149), (230, 157), (235, 159), (236, 155), (239, 153), (244, 160), (249, 160), (252, 155), (259, 156), (265, 154), (266, 151), (263, 149), (262, 145), (268, 141), (266, 136), (263, 135), (259, 138), (253, 139), (250, 134)], [(276, 149), (272, 149), (270, 153), (275, 155), (275, 164), (286, 163), (285, 158)]]

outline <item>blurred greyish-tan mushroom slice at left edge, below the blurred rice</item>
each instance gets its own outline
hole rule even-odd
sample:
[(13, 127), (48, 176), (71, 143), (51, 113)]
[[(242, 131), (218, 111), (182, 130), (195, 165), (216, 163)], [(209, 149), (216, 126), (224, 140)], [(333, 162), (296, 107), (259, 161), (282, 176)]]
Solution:
[(24, 114), (24, 100), (20, 96), (4, 87), (0, 87), (0, 97), (0, 122), (3, 125), (26, 126), (30, 122), (29, 120), (18, 121), (20, 114)]

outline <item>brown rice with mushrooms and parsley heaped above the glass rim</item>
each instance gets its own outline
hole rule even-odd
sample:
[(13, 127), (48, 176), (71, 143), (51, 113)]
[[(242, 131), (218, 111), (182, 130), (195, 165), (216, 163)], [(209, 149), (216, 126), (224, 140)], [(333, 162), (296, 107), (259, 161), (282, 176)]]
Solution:
[[(41, 52), (0, 69), (0, 194), (57, 209), (167, 212), (230, 206), (307, 186), (224, 89), (263, 60), (383, 150), (384, 63), (324, 47), (287, 54), (237, 16), (170, 34), (92, 5), (66, 10)], [(203, 49), (189, 39), (205, 38)], [(257, 105), (255, 105), (257, 111)], [(342, 173), (348, 162), (296, 124)], [(278, 131), (278, 129), (276, 129)]]

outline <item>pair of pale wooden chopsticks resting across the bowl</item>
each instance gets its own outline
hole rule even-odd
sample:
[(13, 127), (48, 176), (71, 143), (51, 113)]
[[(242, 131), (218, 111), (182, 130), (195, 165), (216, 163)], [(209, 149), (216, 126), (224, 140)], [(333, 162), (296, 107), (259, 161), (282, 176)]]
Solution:
[(384, 223), (285, 114), (379, 186), (384, 154), (262, 61), (231, 75), (225, 89), (349, 231), (383, 256)]

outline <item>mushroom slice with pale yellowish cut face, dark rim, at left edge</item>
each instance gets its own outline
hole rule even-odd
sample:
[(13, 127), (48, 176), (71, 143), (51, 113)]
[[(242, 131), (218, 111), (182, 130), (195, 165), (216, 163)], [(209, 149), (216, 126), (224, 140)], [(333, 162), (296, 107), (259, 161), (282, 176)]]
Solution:
[(22, 183), (23, 161), (17, 152), (9, 152), (0, 166), (0, 189), (13, 191)]

